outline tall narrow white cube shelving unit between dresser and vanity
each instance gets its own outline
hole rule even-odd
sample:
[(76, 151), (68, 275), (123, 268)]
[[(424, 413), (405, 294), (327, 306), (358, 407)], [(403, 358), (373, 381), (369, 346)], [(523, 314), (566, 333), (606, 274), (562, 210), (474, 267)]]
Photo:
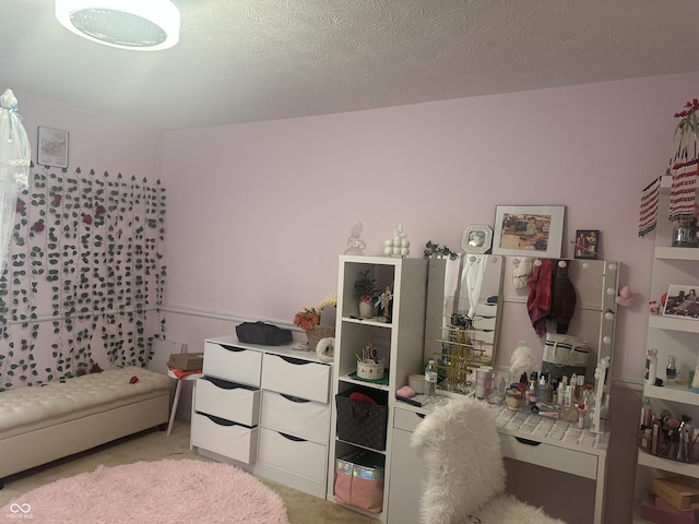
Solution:
[[(393, 291), (390, 322), (359, 318), (358, 297), (354, 283), (360, 272), (369, 270), (377, 288), (390, 286)], [(391, 483), (391, 434), (395, 390), (407, 384), (407, 378), (420, 373), (424, 367), (425, 303), (427, 295), (427, 260), (390, 257), (341, 255), (339, 261), (337, 321), (335, 326), (335, 365), (332, 391), (337, 395), (352, 388), (384, 398), (387, 406), (386, 446), (367, 449), (337, 438), (337, 409), (333, 398), (328, 475), (328, 500), (335, 501), (336, 458), (365, 450), (384, 462), (383, 507), (380, 513), (368, 513), (352, 505), (347, 508), (367, 516), (388, 522), (388, 491)], [(384, 360), (387, 379), (369, 382), (356, 378), (357, 357), (362, 348), (372, 342), (377, 356)], [(340, 502), (339, 502), (340, 503)]]

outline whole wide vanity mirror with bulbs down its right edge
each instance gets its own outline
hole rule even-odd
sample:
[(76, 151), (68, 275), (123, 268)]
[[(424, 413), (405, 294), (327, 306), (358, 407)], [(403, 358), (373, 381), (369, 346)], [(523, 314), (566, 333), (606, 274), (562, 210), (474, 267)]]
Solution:
[[(536, 366), (541, 366), (546, 341), (535, 333), (528, 314), (530, 289), (528, 277), (518, 276), (519, 262), (519, 257), (470, 253), (453, 261), (429, 261), (425, 359), (436, 357), (449, 368), (452, 381), (447, 389), (460, 389), (469, 372), (464, 368), (509, 368), (521, 340), (532, 348)], [(594, 383), (597, 362), (604, 357), (611, 361), (614, 353), (617, 308), (614, 299), (620, 264), (574, 259), (552, 262), (567, 264), (577, 296), (567, 333), (584, 341), (590, 348), (587, 382)], [(478, 269), (481, 287), (473, 293), (472, 287), (475, 285), (477, 289), (478, 285)], [(472, 303), (472, 322), (461, 329), (460, 315), (467, 317)], [(556, 324), (547, 322), (547, 332), (556, 333)], [(608, 394), (608, 380), (604, 390)]]

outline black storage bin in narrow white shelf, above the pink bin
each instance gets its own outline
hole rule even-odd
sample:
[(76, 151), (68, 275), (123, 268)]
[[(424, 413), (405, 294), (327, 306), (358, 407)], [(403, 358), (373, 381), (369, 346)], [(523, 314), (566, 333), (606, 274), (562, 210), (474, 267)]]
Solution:
[[(350, 400), (359, 392), (372, 398), (376, 404)], [(386, 450), (386, 426), (388, 421), (388, 393), (352, 388), (335, 395), (337, 406), (337, 439), (372, 450)]]

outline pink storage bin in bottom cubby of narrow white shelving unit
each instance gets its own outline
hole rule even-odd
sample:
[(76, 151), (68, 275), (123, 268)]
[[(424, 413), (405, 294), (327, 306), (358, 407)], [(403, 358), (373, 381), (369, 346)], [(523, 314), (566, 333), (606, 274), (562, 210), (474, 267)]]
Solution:
[(335, 461), (335, 500), (370, 513), (381, 513), (384, 464), (383, 455), (371, 452), (355, 452), (337, 458)]

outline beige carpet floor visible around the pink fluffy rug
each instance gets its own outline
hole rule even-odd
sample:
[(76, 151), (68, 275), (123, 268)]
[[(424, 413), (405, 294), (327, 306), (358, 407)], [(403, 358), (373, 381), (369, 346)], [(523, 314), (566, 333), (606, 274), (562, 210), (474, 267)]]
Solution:
[[(161, 458), (191, 458), (213, 462), (189, 449), (189, 422), (177, 419), (173, 434), (169, 437), (165, 431), (145, 431), (120, 439), (111, 444), (102, 445), (90, 452), (9, 477), (4, 488), (0, 489), (0, 507), (17, 500), (22, 495), (39, 486), (80, 473), (94, 472), (99, 465), (116, 466)], [(347, 510), (340, 504), (263, 478), (260, 480), (282, 497), (291, 524), (377, 524), (375, 519)], [(0, 521), (4, 517), (4, 513), (0, 514)], [(34, 522), (38, 523), (36, 520)], [(205, 515), (194, 522), (206, 522)]]

